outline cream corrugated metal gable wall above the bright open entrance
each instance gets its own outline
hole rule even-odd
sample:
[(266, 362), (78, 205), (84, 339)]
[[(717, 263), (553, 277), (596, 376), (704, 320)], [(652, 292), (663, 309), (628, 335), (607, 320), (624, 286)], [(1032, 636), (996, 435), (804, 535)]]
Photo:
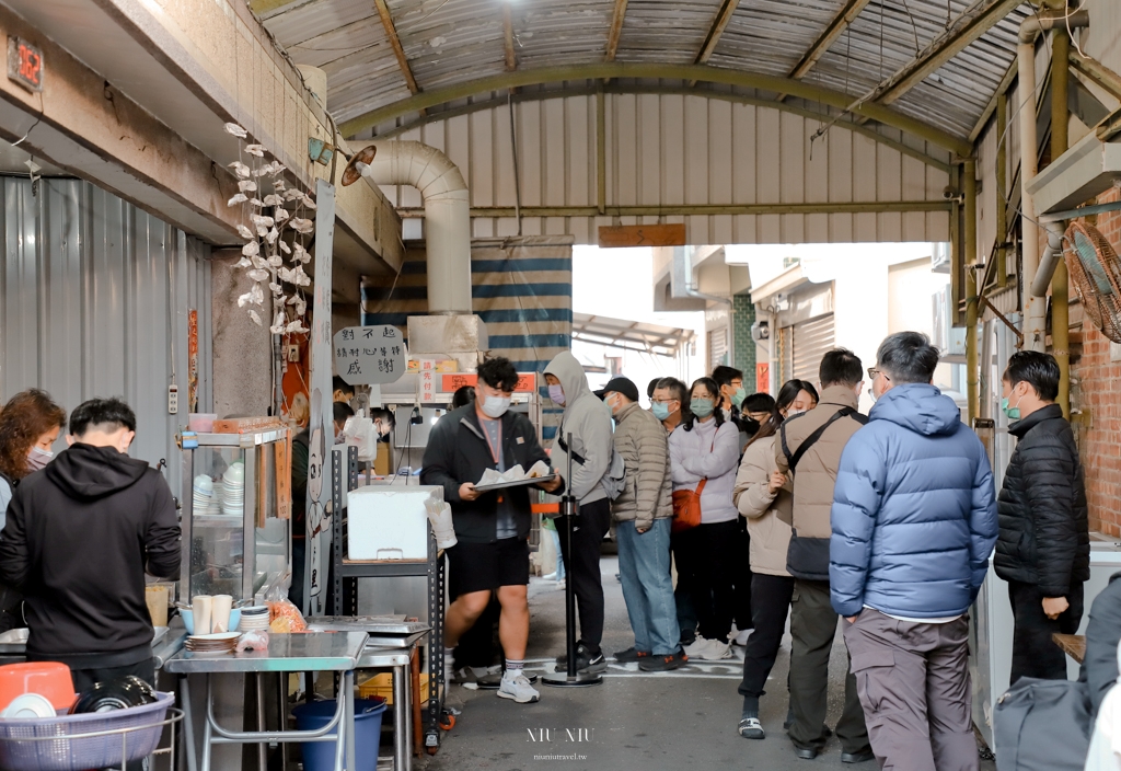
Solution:
[[(814, 143), (816, 120), (790, 112), (682, 94), (606, 94), (608, 206), (802, 204), (943, 199), (946, 171), (884, 143), (834, 127)], [(515, 104), (522, 206), (596, 206), (596, 97)], [(889, 132), (890, 130), (884, 130)], [(439, 148), (458, 165), (474, 207), (516, 203), (506, 106), (434, 121), (401, 133)], [(896, 140), (939, 161), (938, 148)], [(417, 191), (385, 187), (391, 202), (421, 205)], [(688, 243), (946, 241), (946, 212), (666, 215), (684, 222)], [(622, 217), (649, 224), (657, 216)], [(526, 235), (569, 234), (594, 243), (600, 216), (527, 216)], [(516, 235), (513, 217), (476, 217), (476, 238)], [(406, 221), (407, 238), (419, 223)]]

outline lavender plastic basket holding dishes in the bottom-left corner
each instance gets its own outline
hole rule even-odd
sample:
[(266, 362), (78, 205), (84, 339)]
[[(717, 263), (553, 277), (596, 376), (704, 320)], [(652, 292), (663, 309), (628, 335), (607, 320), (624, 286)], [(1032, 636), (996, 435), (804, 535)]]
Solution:
[(174, 694), (157, 697), (152, 704), (113, 712), (0, 718), (0, 769), (83, 771), (147, 758), (159, 745), (167, 709), (175, 702)]

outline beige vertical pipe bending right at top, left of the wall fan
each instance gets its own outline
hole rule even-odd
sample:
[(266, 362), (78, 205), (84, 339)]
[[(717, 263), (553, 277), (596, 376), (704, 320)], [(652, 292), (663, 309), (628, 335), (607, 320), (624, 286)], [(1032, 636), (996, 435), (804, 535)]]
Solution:
[[(1036, 36), (1059, 25), (1069, 24), (1071, 29), (1090, 25), (1086, 11), (1072, 13), (1069, 19), (1065, 12), (1055, 16), (1034, 15), (1020, 24), (1017, 55), (1017, 77), (1019, 80), (1019, 128), (1020, 128), (1020, 211), (1022, 233), (1020, 248), (1023, 250), (1025, 276), (1035, 278), (1039, 271), (1039, 233), (1036, 227), (1036, 204), (1028, 193), (1028, 183), (1039, 173), (1039, 140), (1036, 134)], [(1003, 127), (1000, 128), (1003, 131)], [(1050, 273), (1047, 280), (1050, 281)], [(1025, 281), (1026, 284), (1026, 281)], [(1035, 285), (1035, 281), (1032, 281)], [(1023, 287), (1026, 288), (1026, 287)], [(1031, 351), (1043, 351), (1047, 345), (1047, 301), (1036, 294), (1035, 286), (1030, 291), (1023, 291), (1023, 343)], [(1046, 294), (1046, 286), (1044, 289)]]

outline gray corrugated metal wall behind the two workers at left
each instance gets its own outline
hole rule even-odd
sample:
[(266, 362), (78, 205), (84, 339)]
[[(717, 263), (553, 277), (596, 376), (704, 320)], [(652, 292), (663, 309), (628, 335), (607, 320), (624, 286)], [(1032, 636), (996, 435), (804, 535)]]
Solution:
[(4, 177), (0, 193), (0, 399), (41, 388), (70, 411), (95, 396), (124, 397), (138, 424), (130, 455), (167, 458), (178, 494), (188, 309), (198, 312), (197, 411), (211, 405), (210, 248), (77, 179), (43, 179), (33, 195), (29, 180)]

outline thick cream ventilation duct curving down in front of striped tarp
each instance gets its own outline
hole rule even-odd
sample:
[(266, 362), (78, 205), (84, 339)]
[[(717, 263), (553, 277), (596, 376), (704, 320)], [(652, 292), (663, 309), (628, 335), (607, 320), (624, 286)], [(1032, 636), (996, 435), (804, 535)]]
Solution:
[(458, 167), (443, 152), (413, 141), (374, 142), (369, 164), (358, 164), (376, 185), (409, 185), (424, 201), (428, 252), (428, 313), (471, 313), (471, 202)]

